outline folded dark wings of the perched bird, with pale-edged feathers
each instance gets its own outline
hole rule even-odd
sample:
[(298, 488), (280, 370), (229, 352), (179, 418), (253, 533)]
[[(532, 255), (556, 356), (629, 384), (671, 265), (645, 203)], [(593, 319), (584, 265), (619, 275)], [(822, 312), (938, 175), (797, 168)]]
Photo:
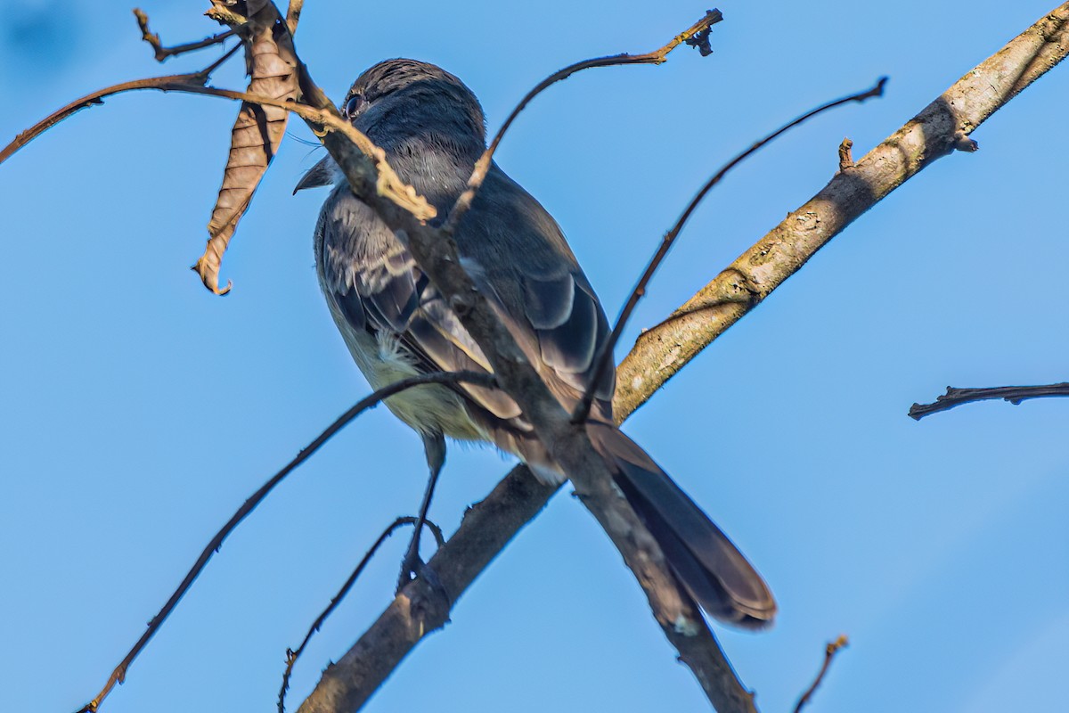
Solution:
[[(353, 328), (397, 335), (422, 371), (493, 371), (408, 250), (346, 188), (328, 199), (320, 230), (325, 289)], [(556, 221), (494, 166), (455, 239), (476, 285), (551, 391), (571, 408), (593, 377), (609, 327)], [(594, 392), (595, 417), (610, 418), (614, 385), (609, 363)], [(501, 391), (463, 389), (498, 418), (521, 415)]]

